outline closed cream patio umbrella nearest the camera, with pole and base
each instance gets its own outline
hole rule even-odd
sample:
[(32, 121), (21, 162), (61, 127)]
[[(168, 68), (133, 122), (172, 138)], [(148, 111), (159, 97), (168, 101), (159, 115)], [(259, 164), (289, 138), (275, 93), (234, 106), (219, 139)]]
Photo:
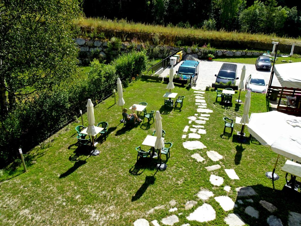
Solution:
[(166, 164), (161, 162), (161, 148), (164, 147), (164, 139), (162, 137), (162, 118), (159, 111), (156, 111), (155, 115), (155, 129), (157, 139), (155, 142), (155, 149), (158, 149), (158, 158), (160, 159), (160, 163), (157, 164), (157, 168), (159, 169), (166, 169)]

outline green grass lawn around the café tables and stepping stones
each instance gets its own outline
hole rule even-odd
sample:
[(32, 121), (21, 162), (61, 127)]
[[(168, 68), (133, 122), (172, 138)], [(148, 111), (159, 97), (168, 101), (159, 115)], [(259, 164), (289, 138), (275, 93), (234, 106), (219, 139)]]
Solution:
[[(27, 173), (22, 173), (22, 164), (11, 165), (5, 170), (0, 184), (0, 224), (133, 225), (132, 222), (138, 218), (160, 222), (172, 214), (183, 213), (178, 215), (179, 223), (174, 225), (225, 225), (224, 218), (234, 212), (249, 225), (267, 225), (266, 218), (272, 214), (259, 204), (260, 200), (274, 204), (278, 210), (273, 215), (281, 218), (284, 224), (287, 223), (288, 211), (300, 211), (300, 196), (294, 198), (281, 191), (285, 183), (285, 174), (281, 171), (286, 161), (284, 157), (280, 157), (278, 162), (276, 172), (281, 178), (275, 182), (273, 190), (271, 180), (264, 174), (272, 170), (277, 155), (255, 139), (240, 145), (235, 136), (222, 135), (224, 114), (242, 115), (243, 105), (233, 104), (225, 111), (220, 105), (213, 105), (216, 92), (207, 91), (204, 97), (213, 113), (204, 125), (207, 133), (200, 138), (207, 149), (187, 150), (182, 142), (191, 139), (188, 136), (182, 139), (182, 134), (184, 127), (190, 125), (187, 117), (197, 113), (195, 93), (192, 89), (176, 86), (173, 92), (185, 96), (182, 111), (165, 111), (162, 96), (167, 91), (166, 85), (140, 80), (130, 84), (123, 93), (126, 107), (146, 101), (147, 111), (160, 110), (162, 113), (165, 142), (173, 143), (166, 171), (157, 171), (156, 160), (144, 159), (136, 164), (135, 147), (141, 145), (146, 135), (152, 134), (155, 124), (148, 125), (144, 120), (140, 125), (124, 128), (119, 122), (121, 107), (114, 105), (114, 98), (110, 97), (95, 107), (95, 124), (100, 121), (109, 123), (107, 140), (99, 140), (97, 146), (100, 155), (89, 156), (85, 147), (76, 145), (75, 127), (81, 124), (79, 118), (26, 154)], [(245, 92), (241, 92), (243, 101), (244, 95)], [(238, 99), (238, 93), (234, 95), (235, 99)], [(252, 93), (250, 112), (265, 111), (265, 95)], [(85, 126), (88, 124), (86, 114), (84, 123)], [(235, 125), (233, 134), (238, 130), (240, 127)], [(142, 148), (147, 149), (146, 146)], [(219, 152), (223, 159), (213, 162), (206, 155), (209, 150)], [(196, 162), (190, 157), (194, 153), (199, 153), (205, 161)], [(212, 172), (204, 168), (215, 164), (222, 167)], [(234, 169), (240, 180), (231, 180), (225, 168)], [(224, 184), (221, 187), (210, 184), (211, 174), (223, 177)], [(231, 186), (229, 193), (223, 189), (226, 185)], [(242, 186), (252, 186), (259, 194), (251, 197), (254, 203), (247, 203), (247, 198), (237, 198), (235, 188)], [(186, 217), (204, 203), (196, 196), (201, 188), (213, 191), (215, 196), (227, 195), (234, 202), (242, 199), (244, 204), (225, 212), (211, 197), (206, 203), (215, 209), (216, 219), (206, 224), (188, 221)], [(172, 200), (178, 211), (169, 213), (169, 209), (174, 207)], [(185, 210), (184, 205), (190, 200), (196, 200), (197, 205)], [(162, 205), (163, 209), (147, 213)], [(259, 210), (259, 219), (244, 213), (248, 205)], [(160, 222), (160, 225), (163, 224)]]

